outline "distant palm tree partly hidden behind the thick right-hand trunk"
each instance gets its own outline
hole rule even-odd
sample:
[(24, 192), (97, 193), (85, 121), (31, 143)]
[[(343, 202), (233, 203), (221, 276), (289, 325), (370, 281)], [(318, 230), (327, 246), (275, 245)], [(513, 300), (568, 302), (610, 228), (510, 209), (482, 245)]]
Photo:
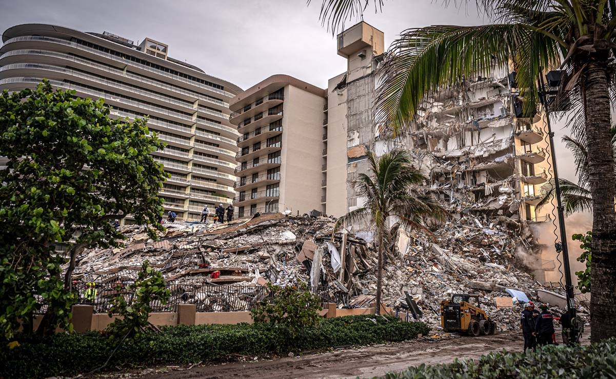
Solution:
[[(610, 134), (612, 135), (612, 148), (614, 151), (614, 159), (616, 160), (616, 126), (612, 126)], [(577, 174), (578, 177), (577, 183), (562, 178), (559, 180), (562, 204), (564, 204), (565, 212), (567, 214), (575, 212), (592, 212), (593, 196), (590, 190), (588, 190), (588, 153), (586, 151), (586, 143), (578, 140), (578, 138), (570, 137), (569, 135), (562, 137), (562, 140), (573, 153), (575, 174)], [(537, 203), (537, 209), (551, 203), (553, 197), (554, 180), (552, 179), (541, 186), (541, 201)]]

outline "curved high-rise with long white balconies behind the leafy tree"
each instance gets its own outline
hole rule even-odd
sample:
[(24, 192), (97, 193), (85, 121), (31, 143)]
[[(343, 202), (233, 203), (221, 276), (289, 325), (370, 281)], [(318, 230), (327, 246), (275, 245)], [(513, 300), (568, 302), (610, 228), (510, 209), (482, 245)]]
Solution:
[(114, 116), (149, 116), (148, 127), (168, 144), (152, 153), (171, 174), (160, 192), (166, 210), (195, 220), (205, 204), (232, 202), (237, 132), (229, 100), (240, 87), (169, 57), (169, 47), (150, 38), (134, 44), (107, 32), (26, 24), (4, 31), (2, 42), (0, 89), (47, 78), (80, 97), (104, 98)]

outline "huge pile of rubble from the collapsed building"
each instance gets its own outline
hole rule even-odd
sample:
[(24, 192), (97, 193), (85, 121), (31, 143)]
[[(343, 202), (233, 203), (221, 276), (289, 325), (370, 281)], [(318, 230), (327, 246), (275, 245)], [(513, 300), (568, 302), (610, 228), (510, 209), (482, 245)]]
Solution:
[[(265, 213), (224, 225), (171, 223), (159, 241), (148, 239), (141, 226), (123, 226), (124, 247), (86, 250), (77, 258), (74, 279), (131, 282), (148, 260), (169, 284), (180, 286), (173, 296), (189, 303), (206, 299), (188, 288), (218, 285), (223, 293), (228, 285), (246, 286), (248, 291), (267, 282), (302, 281), (341, 307), (368, 306), (376, 293), (372, 235), (333, 234), (334, 222), (326, 217)], [(521, 307), (505, 290), (533, 298), (543, 286), (516, 258), (516, 249), (527, 242), (512, 222), (506, 217), (490, 221), (466, 216), (439, 226), (434, 234), (394, 227), (395, 238), (384, 257), (383, 302), (403, 308), (406, 292), (421, 308), (421, 319), (437, 327), (441, 300), (452, 293), (479, 293), (482, 308), (496, 318), (501, 330), (517, 329)]]

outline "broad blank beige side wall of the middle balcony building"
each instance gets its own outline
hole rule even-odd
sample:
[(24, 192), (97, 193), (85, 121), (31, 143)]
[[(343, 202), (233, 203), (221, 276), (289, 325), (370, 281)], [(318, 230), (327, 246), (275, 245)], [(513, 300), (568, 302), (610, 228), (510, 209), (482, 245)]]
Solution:
[(325, 98), (285, 87), (282, 119), (280, 209), (321, 210), (323, 106)]

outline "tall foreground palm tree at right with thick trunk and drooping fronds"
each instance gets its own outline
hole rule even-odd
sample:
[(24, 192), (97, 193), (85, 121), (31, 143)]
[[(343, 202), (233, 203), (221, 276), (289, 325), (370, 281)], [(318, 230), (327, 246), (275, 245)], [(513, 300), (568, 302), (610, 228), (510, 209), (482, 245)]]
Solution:
[[(338, 30), (368, 4), (384, 0), (322, 0), (321, 19)], [(424, 99), (436, 97), (470, 76), (489, 75), (513, 63), (525, 113), (538, 105), (537, 78), (544, 68), (563, 68), (562, 110), (583, 137), (588, 153), (588, 190), (593, 205), (591, 340), (616, 337), (616, 176), (610, 138), (610, 102), (616, 97), (616, 0), (444, 0), (474, 2), (492, 24), (434, 25), (403, 31), (383, 62), (375, 120), (392, 134), (413, 126)], [(565, 241), (563, 241), (565, 242)]]

